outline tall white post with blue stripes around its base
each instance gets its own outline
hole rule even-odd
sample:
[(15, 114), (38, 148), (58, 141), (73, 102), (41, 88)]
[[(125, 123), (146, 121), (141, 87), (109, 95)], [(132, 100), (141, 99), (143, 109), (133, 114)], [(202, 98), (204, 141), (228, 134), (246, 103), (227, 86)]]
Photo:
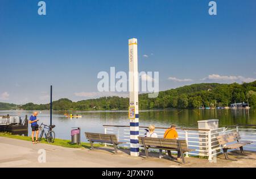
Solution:
[(130, 155), (139, 156), (139, 101), (138, 101), (138, 48), (137, 39), (129, 39), (129, 119)]

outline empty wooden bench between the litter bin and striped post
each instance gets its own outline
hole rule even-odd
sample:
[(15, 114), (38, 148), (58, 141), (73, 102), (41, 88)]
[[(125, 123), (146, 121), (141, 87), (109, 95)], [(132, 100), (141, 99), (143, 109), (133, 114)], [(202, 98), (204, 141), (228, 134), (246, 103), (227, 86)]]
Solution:
[(115, 153), (117, 153), (117, 145), (122, 144), (122, 142), (119, 142), (117, 140), (117, 136), (114, 134), (100, 134), (100, 133), (85, 132), (85, 137), (90, 141), (92, 150), (94, 149), (93, 143), (99, 142), (99, 143), (113, 144)]

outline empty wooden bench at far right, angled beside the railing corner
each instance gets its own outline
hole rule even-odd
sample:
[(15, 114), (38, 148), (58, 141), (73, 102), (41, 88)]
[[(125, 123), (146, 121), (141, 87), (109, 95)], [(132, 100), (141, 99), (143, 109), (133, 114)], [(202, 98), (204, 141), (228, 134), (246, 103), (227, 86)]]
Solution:
[[(232, 132), (229, 134), (217, 136), (217, 140), (224, 152), (225, 159), (229, 159), (228, 149), (240, 148), (241, 153), (243, 153), (243, 145), (253, 143), (252, 141), (239, 141), (241, 140), (241, 136), (237, 132)], [(232, 143), (233, 141), (236, 141), (236, 143)], [(232, 144), (228, 144), (228, 143), (232, 143)]]

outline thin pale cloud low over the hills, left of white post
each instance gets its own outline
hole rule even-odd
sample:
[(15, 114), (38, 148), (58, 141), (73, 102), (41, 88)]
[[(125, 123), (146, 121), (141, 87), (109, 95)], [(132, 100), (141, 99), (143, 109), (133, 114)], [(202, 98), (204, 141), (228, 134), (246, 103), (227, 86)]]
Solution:
[(86, 98), (100, 98), (100, 97), (109, 97), (109, 96), (119, 96), (119, 97), (129, 97), (128, 93), (115, 93), (115, 92), (78, 92), (75, 93), (77, 97), (86, 97)]

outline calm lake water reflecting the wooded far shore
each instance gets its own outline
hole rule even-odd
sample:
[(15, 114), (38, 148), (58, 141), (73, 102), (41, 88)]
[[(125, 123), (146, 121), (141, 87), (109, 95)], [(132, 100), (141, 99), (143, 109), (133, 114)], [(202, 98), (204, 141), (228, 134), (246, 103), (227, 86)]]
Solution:
[[(81, 132), (104, 132), (102, 125), (125, 125), (129, 126), (127, 111), (73, 111), (74, 115), (82, 115), (82, 118), (67, 118), (60, 111), (53, 111), (52, 124), (56, 127), (54, 131), (56, 138), (71, 139), (71, 128), (81, 127)], [(0, 115), (20, 116), (24, 120), (32, 111), (0, 111)], [(49, 124), (49, 111), (42, 111), (38, 115), (39, 124)], [(147, 110), (139, 112), (140, 126), (155, 124), (156, 127), (169, 127), (174, 123), (178, 127), (195, 127), (197, 120), (219, 119), (219, 126), (230, 126), (233, 124), (256, 124), (255, 109), (245, 110)], [(31, 128), (29, 127), (29, 134)], [(85, 138), (81, 138), (85, 141)]]

